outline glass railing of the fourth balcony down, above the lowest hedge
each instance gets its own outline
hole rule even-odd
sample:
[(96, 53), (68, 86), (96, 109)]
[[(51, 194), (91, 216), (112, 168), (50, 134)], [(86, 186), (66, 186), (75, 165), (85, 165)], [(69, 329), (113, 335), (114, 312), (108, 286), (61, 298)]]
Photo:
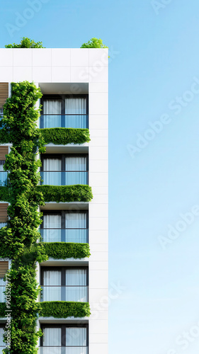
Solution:
[(42, 285), (40, 301), (88, 302), (88, 286)]

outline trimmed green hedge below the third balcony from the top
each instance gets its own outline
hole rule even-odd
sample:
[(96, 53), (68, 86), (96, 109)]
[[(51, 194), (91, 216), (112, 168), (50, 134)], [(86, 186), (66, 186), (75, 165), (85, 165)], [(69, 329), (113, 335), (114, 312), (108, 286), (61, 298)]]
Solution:
[(89, 244), (66, 242), (44, 242), (45, 253), (55, 259), (86, 258), (91, 256)]

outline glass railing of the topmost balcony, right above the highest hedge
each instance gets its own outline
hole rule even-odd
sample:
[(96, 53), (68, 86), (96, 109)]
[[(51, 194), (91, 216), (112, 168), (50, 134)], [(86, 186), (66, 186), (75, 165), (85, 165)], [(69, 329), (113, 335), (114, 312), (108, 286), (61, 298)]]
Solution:
[(40, 128), (81, 128), (89, 127), (88, 114), (44, 114), (40, 116)]

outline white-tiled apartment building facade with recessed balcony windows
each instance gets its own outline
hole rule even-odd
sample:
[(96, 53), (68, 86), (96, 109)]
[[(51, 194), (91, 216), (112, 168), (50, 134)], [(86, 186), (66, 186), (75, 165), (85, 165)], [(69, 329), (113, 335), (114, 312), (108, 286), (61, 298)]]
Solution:
[[(46, 202), (40, 207), (45, 242), (89, 243), (89, 258), (54, 259), (38, 264), (43, 301), (89, 302), (91, 316), (39, 317), (40, 354), (108, 353), (108, 50), (0, 49), (0, 105), (11, 95), (11, 82), (30, 81), (42, 91), (38, 127), (89, 128), (84, 144), (47, 144), (41, 175), (47, 185), (86, 184), (91, 202)], [(0, 147), (1, 185), (5, 154)], [(0, 202), (0, 223), (6, 222)], [(0, 302), (8, 260), (0, 262)], [(2, 336), (4, 319), (1, 319)], [(0, 342), (1, 350), (4, 343)], [(1, 351), (0, 350), (0, 351)]]

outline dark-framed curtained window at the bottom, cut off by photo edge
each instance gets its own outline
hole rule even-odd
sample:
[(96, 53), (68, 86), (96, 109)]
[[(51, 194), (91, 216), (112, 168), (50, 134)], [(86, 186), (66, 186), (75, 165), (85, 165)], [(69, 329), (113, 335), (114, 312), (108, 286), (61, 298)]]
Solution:
[(43, 325), (40, 354), (88, 354), (88, 326)]

